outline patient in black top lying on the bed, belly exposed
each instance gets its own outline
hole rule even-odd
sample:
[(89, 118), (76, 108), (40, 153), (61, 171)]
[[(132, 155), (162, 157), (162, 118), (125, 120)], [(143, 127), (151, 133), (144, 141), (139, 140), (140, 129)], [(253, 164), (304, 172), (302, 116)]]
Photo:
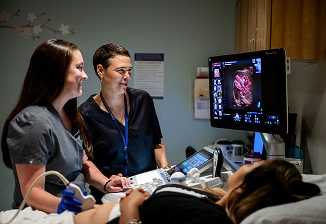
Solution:
[[(76, 215), (46, 214), (29, 207), (12, 223), (239, 223), (261, 208), (319, 193), (318, 186), (302, 181), (293, 164), (262, 160), (241, 166), (229, 177), (227, 192), (177, 184), (161, 186), (152, 195), (141, 188), (130, 189), (119, 204), (108, 202)], [(2, 221), (8, 221), (14, 211), (6, 211)]]

